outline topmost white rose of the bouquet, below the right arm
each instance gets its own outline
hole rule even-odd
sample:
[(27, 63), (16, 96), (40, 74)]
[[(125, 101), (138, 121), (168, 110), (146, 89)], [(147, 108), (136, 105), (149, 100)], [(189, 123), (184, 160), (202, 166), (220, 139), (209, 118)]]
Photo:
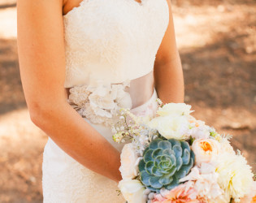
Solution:
[(171, 114), (189, 115), (194, 110), (190, 110), (191, 106), (185, 103), (168, 103), (163, 107), (159, 107), (157, 114), (166, 116)]

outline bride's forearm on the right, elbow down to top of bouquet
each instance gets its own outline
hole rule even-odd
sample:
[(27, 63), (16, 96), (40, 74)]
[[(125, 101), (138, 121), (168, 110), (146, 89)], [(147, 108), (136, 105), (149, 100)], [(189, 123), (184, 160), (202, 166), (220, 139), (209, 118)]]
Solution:
[(180, 56), (154, 66), (154, 85), (163, 103), (184, 102), (184, 76)]

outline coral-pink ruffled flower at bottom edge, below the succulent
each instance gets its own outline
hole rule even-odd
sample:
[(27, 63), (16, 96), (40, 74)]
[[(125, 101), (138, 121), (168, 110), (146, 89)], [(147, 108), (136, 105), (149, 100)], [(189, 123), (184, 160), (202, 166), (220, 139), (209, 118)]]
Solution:
[(152, 201), (154, 203), (206, 203), (202, 198), (197, 199), (197, 190), (193, 188), (193, 182), (180, 184), (168, 192), (165, 197), (158, 194)]

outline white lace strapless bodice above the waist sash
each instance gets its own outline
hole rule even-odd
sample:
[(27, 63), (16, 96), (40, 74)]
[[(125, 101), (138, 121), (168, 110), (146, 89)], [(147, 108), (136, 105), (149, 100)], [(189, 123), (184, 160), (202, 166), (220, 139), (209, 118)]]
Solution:
[(63, 15), (65, 88), (145, 76), (169, 21), (167, 0), (82, 0)]

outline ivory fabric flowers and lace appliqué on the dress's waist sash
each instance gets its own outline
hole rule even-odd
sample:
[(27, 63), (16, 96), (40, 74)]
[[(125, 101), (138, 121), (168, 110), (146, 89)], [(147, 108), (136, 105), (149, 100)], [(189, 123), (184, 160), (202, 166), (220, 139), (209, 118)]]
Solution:
[(67, 102), (91, 123), (111, 126), (119, 108), (132, 108), (130, 94), (123, 84), (97, 84), (76, 86), (69, 90)]

